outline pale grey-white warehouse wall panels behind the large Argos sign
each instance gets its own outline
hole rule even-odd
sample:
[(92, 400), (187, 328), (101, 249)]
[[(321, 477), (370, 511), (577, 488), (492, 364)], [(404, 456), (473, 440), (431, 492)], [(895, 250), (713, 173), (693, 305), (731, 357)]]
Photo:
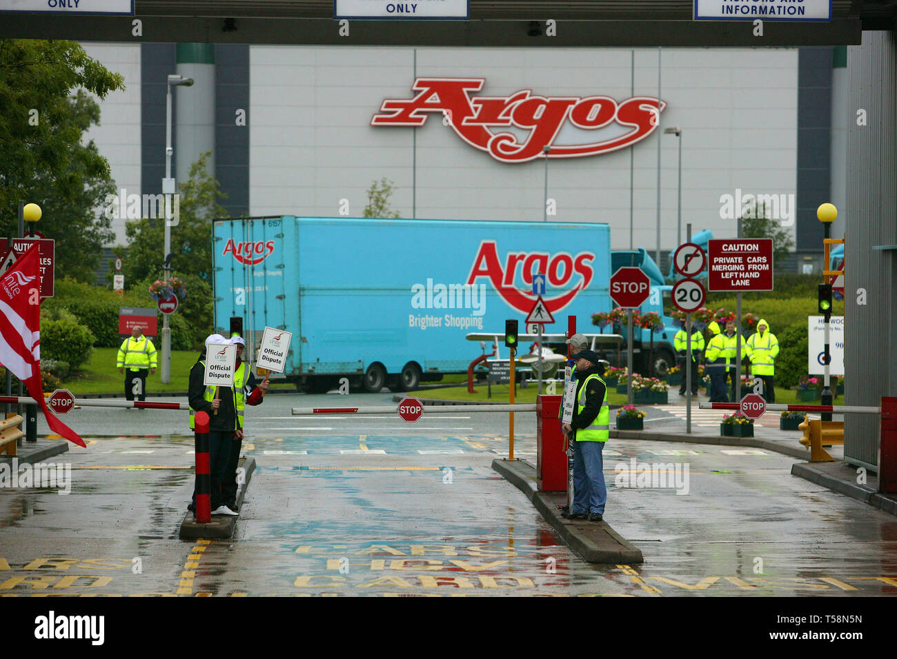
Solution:
[[(249, 203), (254, 215), (335, 215), (341, 199), (361, 215), (374, 179), (398, 187), (403, 217), (543, 218), (544, 160), (506, 164), (462, 142), (440, 117), (420, 128), (374, 127), (382, 100), (410, 99), (418, 76), (483, 77), (475, 95), (532, 89), (544, 96), (631, 96), (630, 49), (250, 48)], [(734, 236), (720, 195), (796, 194), (797, 49), (662, 51), (660, 133), (683, 129), (684, 226)], [(658, 92), (658, 49), (635, 50), (635, 95)], [(414, 131), (417, 131), (414, 148)], [(565, 129), (569, 130), (569, 129)], [(563, 136), (563, 133), (562, 133)], [(634, 242), (657, 243), (661, 140), (661, 244), (675, 246), (677, 138), (652, 134), (634, 148)], [(415, 180), (416, 179), (416, 180)], [(416, 188), (416, 204), (413, 193)], [(556, 221), (604, 221), (614, 248), (629, 247), (630, 150), (551, 159)]]

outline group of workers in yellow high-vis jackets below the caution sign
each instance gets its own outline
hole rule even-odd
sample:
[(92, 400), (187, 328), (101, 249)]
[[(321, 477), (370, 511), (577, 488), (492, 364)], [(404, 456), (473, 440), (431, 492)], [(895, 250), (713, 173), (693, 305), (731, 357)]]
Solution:
[[(727, 321), (725, 331), (714, 321), (707, 325), (710, 332), (710, 340), (704, 344), (704, 334), (700, 330), (692, 330), (692, 394), (698, 393), (698, 360), (701, 352), (704, 353), (704, 370), (710, 375), (710, 403), (732, 403), (736, 396), (736, 361), (738, 349), (738, 334), (736, 325), (732, 320)], [(679, 395), (685, 394), (685, 361), (687, 358), (688, 332), (683, 327), (676, 332), (673, 339), (676, 356), (682, 366), (682, 384), (679, 386)], [(779, 356), (779, 339), (772, 334), (770, 324), (761, 318), (757, 323), (757, 330), (746, 340), (741, 336), (741, 357), (749, 360), (751, 372), (754, 377), (763, 381), (761, 395), (767, 403), (776, 402), (776, 390), (773, 377), (775, 376), (776, 357)], [(729, 394), (726, 393), (726, 378), (731, 386)]]

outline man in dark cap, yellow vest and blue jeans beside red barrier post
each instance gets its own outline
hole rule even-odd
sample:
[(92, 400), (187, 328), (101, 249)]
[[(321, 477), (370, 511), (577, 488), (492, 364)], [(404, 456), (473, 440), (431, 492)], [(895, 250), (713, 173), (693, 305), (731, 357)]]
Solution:
[(604, 474), (604, 447), (610, 437), (610, 407), (607, 386), (599, 375), (600, 355), (579, 351), (576, 360), (576, 408), (564, 434), (573, 443), (573, 510), (564, 513), (572, 519), (600, 522), (605, 513), (607, 488)]

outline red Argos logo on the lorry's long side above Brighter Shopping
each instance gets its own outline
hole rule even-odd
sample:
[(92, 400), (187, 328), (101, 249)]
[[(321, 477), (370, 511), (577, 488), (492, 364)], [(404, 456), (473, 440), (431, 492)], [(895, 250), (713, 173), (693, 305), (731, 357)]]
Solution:
[[(580, 290), (588, 287), (595, 274), (591, 265), (594, 260), (595, 255), (591, 252), (579, 252), (576, 256), (566, 252), (554, 255), (547, 252), (508, 252), (502, 267), (495, 241), (483, 240), (470, 268), (470, 274), (467, 275), (466, 283), (472, 284), (478, 277), (485, 277), (492, 282), (492, 287), (512, 308), (521, 314), (528, 314), (536, 302), (536, 296), (531, 294), (533, 273), (545, 273), (551, 286), (572, 287), (553, 298), (543, 296), (545, 306), (554, 313), (570, 304)], [(519, 290), (514, 286), (518, 269), (523, 283), (527, 286), (525, 290)]]

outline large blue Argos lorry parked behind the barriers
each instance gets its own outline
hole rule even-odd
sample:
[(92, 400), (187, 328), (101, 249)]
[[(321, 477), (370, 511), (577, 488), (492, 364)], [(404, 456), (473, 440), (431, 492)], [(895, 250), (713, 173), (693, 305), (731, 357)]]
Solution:
[[(292, 332), (283, 377), (305, 391), (343, 377), (371, 392), (408, 391), (466, 372), (479, 356), (467, 334), (501, 339), (506, 318), (524, 334), (533, 273), (546, 275), (556, 321), (546, 333), (562, 334), (569, 315), (595, 333), (592, 314), (613, 308), (611, 273), (631, 263), (652, 280), (642, 312), (666, 323), (654, 333), (658, 372), (674, 360), (661, 299), (669, 287), (644, 250), (612, 255), (606, 224), (252, 217), (214, 220), (212, 238), (216, 331), (241, 316), (251, 364), (266, 325)], [(647, 372), (649, 333), (637, 337), (636, 370)]]

